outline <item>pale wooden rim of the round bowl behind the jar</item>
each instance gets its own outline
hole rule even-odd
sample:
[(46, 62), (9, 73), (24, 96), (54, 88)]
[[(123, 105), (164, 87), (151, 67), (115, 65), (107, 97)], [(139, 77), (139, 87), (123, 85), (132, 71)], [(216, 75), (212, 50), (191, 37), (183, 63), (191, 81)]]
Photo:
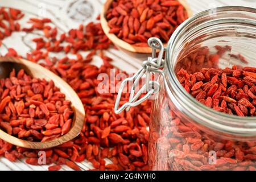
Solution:
[[(109, 26), (108, 26), (108, 21), (106, 20), (106, 11), (110, 8), (110, 5), (112, 4), (113, 0), (107, 0), (106, 3), (103, 6), (103, 9), (101, 11), (101, 26), (103, 31), (105, 32), (106, 36), (115, 44), (115, 46), (121, 47), (123, 49), (126, 49), (127, 51), (130, 52), (137, 52), (137, 53), (151, 53), (152, 49), (150, 47), (138, 47), (138, 46), (133, 46), (132, 44), (129, 44), (122, 39), (119, 39), (115, 34), (109, 34)], [(188, 17), (190, 18), (193, 13), (191, 8), (189, 7), (188, 3), (186, 0), (179, 0), (181, 5), (185, 7), (185, 9), (188, 12)], [(166, 44), (164, 44), (166, 46)]]

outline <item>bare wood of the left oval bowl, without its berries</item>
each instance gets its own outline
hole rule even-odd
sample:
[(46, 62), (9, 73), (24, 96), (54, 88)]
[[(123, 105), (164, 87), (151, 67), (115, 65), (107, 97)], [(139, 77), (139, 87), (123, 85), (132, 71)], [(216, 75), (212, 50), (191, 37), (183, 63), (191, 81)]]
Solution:
[(49, 140), (47, 142), (29, 142), (27, 140), (22, 140), (16, 137), (13, 137), (5, 131), (0, 129), (0, 138), (14, 144), (15, 146), (20, 146), (24, 148), (33, 148), (33, 149), (45, 149), (55, 146), (59, 146), (62, 143), (68, 142), (69, 140), (75, 138), (79, 135), (84, 124), (85, 111), (84, 106), (80, 98), (77, 96), (76, 92), (59, 76), (55, 75), (48, 69), (40, 66), (39, 64), (32, 63), (31, 61), (14, 58), (14, 57), (0, 57), (0, 77), (4, 78), (8, 76), (12, 69), (19, 71), (19, 69), (24, 69), (26, 73), (32, 77), (36, 78), (45, 78), (47, 81), (53, 80), (54, 84), (60, 88), (60, 91), (65, 94), (65, 98), (72, 102), (72, 108), (74, 111), (73, 122), (71, 129), (67, 134)]

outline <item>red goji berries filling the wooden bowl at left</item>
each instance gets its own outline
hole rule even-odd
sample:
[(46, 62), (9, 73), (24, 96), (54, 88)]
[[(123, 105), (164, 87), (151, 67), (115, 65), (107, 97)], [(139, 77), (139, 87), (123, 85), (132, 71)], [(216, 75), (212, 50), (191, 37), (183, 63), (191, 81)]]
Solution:
[(52, 140), (68, 133), (71, 102), (54, 82), (31, 78), (23, 69), (0, 80), (0, 128), (29, 141)]

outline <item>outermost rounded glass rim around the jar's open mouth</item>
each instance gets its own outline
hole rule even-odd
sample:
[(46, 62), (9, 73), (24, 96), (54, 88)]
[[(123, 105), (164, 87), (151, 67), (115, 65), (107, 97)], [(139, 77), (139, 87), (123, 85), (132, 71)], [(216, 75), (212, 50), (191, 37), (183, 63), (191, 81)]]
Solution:
[[(183, 111), (189, 114), (189, 117), (191, 117), (194, 121), (198, 122), (199, 124), (206, 126), (210, 129), (214, 129), (228, 134), (255, 136), (256, 117), (239, 117), (237, 115), (221, 113), (196, 101), (195, 98), (193, 98), (191, 94), (185, 91), (183, 86), (180, 84), (174, 71), (174, 64), (171, 63), (171, 60), (174, 59), (175, 43), (179, 41), (177, 40), (177, 36), (182, 34), (184, 32), (185, 27), (187, 27), (189, 24), (195, 22), (195, 20), (197, 20), (198, 18), (210, 15), (209, 12), (213, 12), (213, 10), (216, 13), (229, 11), (241, 11), (241, 13), (249, 12), (255, 14), (256, 16), (256, 9), (250, 7), (224, 6), (212, 9), (212, 11), (205, 10), (185, 20), (185, 22), (183, 22), (175, 30), (174, 34), (172, 34), (167, 44), (166, 65), (164, 67), (164, 69), (167, 69), (167, 71), (165, 72), (166, 79), (164, 79), (165, 86), (166, 89), (171, 88), (172, 91), (177, 93), (175, 99), (177, 99), (178, 102), (182, 102), (183, 105), (187, 106), (187, 108), (183, 108)], [(253, 24), (253, 26), (256, 27), (256, 21)], [(195, 115), (190, 115), (191, 113), (194, 113)]]

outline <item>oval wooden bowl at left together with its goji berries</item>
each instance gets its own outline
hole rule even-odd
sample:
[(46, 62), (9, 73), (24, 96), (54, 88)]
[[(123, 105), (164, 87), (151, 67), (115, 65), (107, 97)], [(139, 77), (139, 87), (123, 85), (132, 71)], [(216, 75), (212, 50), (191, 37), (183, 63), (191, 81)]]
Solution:
[(14, 57), (1, 57), (0, 69), (1, 139), (43, 149), (80, 133), (84, 107), (64, 80), (38, 64)]

